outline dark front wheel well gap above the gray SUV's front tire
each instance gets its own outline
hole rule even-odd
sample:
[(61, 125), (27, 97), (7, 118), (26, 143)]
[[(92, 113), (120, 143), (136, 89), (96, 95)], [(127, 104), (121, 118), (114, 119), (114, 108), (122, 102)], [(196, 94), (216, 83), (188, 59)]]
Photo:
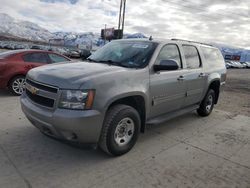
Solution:
[(137, 110), (141, 118), (141, 132), (145, 131), (145, 123), (146, 123), (146, 110), (145, 110), (145, 100), (142, 96), (129, 96), (125, 98), (118, 99), (114, 101), (108, 108), (108, 110), (117, 104), (125, 104), (133, 107)]

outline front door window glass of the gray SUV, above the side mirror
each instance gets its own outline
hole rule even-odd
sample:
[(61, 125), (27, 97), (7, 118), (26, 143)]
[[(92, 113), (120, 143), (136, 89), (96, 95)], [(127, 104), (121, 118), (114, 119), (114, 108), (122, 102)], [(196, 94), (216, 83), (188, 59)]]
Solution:
[(182, 68), (180, 52), (179, 52), (177, 45), (167, 44), (166, 46), (164, 46), (161, 49), (156, 59), (156, 64), (159, 64), (161, 60), (168, 60), (168, 59), (175, 60), (177, 64), (179, 65), (179, 68)]

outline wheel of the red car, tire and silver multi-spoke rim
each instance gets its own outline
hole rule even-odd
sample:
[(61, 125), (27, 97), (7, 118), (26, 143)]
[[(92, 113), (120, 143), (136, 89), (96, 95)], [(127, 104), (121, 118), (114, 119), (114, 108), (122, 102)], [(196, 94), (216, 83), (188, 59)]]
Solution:
[(13, 95), (20, 96), (22, 95), (25, 87), (25, 77), (16, 76), (11, 79), (9, 83), (9, 90)]

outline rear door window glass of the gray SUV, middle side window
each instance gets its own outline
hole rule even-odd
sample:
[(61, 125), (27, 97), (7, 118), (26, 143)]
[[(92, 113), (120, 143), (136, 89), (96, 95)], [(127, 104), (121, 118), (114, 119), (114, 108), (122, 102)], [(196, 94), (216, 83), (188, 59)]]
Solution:
[(187, 68), (197, 69), (201, 67), (200, 56), (197, 48), (190, 45), (183, 45), (182, 48), (186, 59)]

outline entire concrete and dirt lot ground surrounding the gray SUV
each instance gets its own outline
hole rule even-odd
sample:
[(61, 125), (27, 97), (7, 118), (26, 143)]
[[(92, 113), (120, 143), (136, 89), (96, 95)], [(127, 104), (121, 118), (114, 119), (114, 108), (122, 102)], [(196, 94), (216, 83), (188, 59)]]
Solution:
[(126, 155), (75, 148), (42, 135), (18, 97), (0, 91), (0, 187), (250, 188), (250, 70), (229, 70), (214, 112), (148, 126)]

